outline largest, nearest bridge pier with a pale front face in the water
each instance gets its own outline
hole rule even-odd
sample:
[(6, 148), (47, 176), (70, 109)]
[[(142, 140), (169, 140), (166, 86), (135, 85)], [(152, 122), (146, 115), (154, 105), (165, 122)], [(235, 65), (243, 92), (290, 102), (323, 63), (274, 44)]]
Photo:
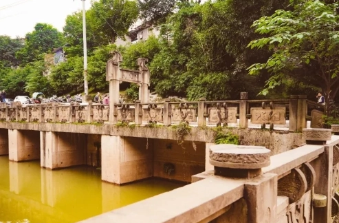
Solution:
[(101, 178), (114, 184), (124, 184), (153, 176), (153, 146), (145, 138), (101, 136)]

